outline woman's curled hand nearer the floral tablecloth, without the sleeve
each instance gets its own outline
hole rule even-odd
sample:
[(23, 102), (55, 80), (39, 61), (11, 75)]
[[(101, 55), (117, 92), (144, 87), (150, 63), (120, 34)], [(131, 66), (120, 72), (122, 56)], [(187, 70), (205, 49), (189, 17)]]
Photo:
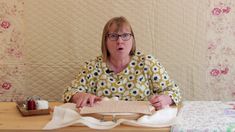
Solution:
[(166, 106), (173, 104), (171, 97), (167, 95), (154, 95), (151, 97), (149, 102), (155, 107), (155, 109), (159, 110)]

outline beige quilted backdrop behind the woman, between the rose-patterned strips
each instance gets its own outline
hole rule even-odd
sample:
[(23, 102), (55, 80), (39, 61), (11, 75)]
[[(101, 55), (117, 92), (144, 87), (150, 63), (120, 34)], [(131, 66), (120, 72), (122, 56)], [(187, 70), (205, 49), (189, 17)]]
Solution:
[(79, 66), (101, 54), (105, 23), (125, 16), (137, 49), (162, 62), (184, 99), (223, 99), (214, 96), (206, 82), (209, 4), (209, 0), (24, 0), (24, 94), (61, 100)]

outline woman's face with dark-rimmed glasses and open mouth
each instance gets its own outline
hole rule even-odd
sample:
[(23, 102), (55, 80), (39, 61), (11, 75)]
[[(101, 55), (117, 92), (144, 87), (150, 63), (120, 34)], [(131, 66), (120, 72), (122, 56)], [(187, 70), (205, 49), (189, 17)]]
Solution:
[(124, 25), (120, 30), (115, 31), (116, 28), (117, 25), (112, 24), (109, 29), (109, 35), (106, 42), (108, 51), (112, 57), (127, 57), (131, 51), (133, 41), (130, 27)]

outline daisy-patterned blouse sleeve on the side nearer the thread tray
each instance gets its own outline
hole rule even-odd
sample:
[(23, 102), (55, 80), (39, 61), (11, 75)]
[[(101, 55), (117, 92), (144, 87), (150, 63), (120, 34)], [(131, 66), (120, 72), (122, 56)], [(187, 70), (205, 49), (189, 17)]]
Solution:
[(92, 72), (94, 68), (88, 62), (81, 68), (75, 79), (71, 82), (63, 93), (63, 101), (70, 102), (71, 97), (78, 92), (90, 92), (89, 82), (93, 80)]

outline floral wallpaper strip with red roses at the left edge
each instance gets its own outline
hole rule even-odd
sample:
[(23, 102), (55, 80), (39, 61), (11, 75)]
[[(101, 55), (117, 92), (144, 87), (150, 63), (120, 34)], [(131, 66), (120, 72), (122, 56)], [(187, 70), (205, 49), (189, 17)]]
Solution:
[(22, 87), (23, 5), (20, 0), (0, 0), (0, 101), (14, 101)]

